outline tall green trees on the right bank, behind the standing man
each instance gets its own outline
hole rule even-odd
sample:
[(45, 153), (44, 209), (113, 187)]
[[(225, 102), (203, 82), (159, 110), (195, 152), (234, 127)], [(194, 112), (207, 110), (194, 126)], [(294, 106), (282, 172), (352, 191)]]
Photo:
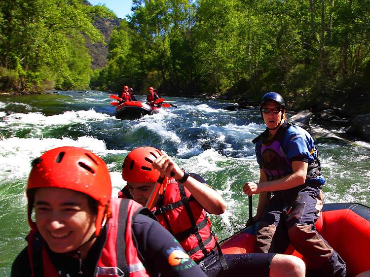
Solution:
[(274, 90), (297, 107), (370, 97), (367, 0), (134, 0), (132, 11), (111, 39), (103, 87)]

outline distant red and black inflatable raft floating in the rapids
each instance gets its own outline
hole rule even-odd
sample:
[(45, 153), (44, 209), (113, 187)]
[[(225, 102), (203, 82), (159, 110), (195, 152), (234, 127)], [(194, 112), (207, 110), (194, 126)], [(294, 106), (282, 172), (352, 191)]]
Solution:
[(152, 114), (160, 107), (153, 107), (139, 101), (126, 101), (119, 104), (115, 109), (115, 117), (118, 119), (137, 119), (146, 114)]

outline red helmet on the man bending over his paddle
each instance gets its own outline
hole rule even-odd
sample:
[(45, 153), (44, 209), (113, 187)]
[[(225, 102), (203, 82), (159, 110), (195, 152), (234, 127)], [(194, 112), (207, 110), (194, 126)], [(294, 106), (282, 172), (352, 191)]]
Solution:
[[(152, 163), (163, 153), (150, 146), (132, 150), (122, 164), (122, 178), (128, 183), (155, 183), (159, 178), (159, 171), (154, 170)], [(167, 184), (167, 177), (163, 182)]]

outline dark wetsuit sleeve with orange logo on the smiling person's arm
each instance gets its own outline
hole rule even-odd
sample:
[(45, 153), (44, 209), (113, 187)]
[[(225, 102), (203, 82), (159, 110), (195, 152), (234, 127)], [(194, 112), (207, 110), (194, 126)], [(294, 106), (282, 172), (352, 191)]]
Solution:
[(161, 277), (206, 277), (180, 243), (158, 222), (138, 214), (133, 233), (144, 264), (153, 276), (160, 273)]

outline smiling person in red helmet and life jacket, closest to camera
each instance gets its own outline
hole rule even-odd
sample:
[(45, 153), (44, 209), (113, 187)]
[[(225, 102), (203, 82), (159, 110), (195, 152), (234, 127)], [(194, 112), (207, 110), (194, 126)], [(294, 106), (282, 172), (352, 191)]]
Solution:
[(27, 198), (31, 232), (12, 277), (204, 276), (148, 209), (111, 199), (108, 168), (88, 150), (34, 160)]

